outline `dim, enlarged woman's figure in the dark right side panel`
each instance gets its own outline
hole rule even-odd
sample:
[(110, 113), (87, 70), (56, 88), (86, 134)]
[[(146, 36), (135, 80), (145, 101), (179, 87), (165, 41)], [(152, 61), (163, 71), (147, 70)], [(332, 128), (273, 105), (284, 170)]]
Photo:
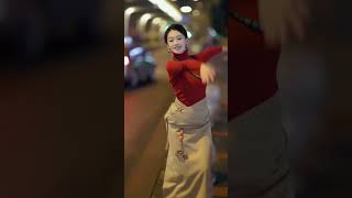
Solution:
[(267, 47), (263, 32), (257, 29), (258, 22), (263, 25), (258, 18), (260, 1), (229, 1), (232, 66), (228, 90), (231, 105), (228, 109), (228, 166), (231, 167), (228, 194), (230, 197), (288, 198), (294, 194), (276, 76), (280, 50)]

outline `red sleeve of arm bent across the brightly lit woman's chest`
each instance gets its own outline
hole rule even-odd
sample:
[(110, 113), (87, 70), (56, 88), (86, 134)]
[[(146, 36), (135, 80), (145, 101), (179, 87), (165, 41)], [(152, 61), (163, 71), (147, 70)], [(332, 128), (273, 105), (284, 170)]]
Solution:
[(184, 69), (197, 70), (200, 68), (201, 62), (197, 59), (185, 59), (185, 61), (168, 61), (166, 69), (169, 77), (178, 75)]

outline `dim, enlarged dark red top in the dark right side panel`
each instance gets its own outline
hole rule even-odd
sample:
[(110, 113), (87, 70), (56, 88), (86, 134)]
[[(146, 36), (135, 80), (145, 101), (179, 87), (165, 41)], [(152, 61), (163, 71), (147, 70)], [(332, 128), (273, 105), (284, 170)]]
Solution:
[[(229, 11), (258, 21), (257, 0), (229, 1)], [(279, 50), (267, 48), (264, 36), (229, 20), (229, 119), (246, 112), (277, 91)]]

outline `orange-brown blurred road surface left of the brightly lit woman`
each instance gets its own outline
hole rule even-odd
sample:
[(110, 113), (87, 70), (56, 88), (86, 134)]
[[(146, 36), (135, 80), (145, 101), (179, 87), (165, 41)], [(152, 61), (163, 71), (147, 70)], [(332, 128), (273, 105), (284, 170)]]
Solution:
[(153, 53), (156, 80), (124, 91), (124, 197), (151, 195), (165, 153), (163, 117), (174, 96), (165, 70), (167, 51)]

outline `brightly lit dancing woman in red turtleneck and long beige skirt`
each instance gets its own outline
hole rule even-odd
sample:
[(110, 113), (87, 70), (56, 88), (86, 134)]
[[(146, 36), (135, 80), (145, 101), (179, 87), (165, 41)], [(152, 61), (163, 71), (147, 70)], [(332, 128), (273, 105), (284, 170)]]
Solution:
[(168, 131), (168, 155), (163, 195), (170, 198), (211, 197), (213, 145), (206, 101), (206, 86), (215, 80), (215, 72), (206, 62), (222, 47), (209, 47), (189, 56), (187, 31), (172, 24), (164, 42), (173, 59), (166, 69), (176, 95), (165, 114)]

